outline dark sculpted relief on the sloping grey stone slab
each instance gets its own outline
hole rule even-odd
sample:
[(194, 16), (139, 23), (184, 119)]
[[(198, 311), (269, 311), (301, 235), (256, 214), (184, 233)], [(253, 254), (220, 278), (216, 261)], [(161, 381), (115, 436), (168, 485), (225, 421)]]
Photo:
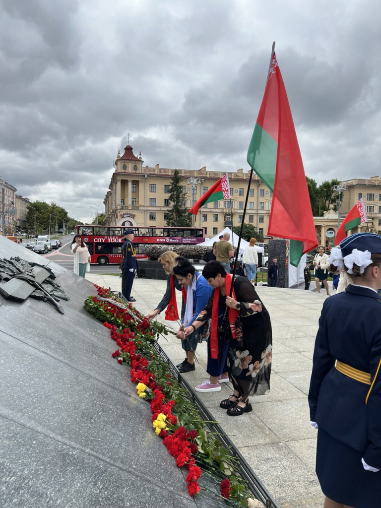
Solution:
[(21, 258), (0, 258), (0, 294), (6, 298), (23, 302), (29, 296), (49, 303), (61, 314), (60, 300), (69, 300), (54, 282), (55, 275), (46, 266), (28, 262)]

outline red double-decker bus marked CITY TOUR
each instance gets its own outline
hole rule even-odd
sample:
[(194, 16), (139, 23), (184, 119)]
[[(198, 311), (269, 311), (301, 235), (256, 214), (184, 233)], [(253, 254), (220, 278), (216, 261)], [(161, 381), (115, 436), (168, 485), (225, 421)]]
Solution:
[(136, 245), (136, 257), (147, 259), (144, 254), (144, 245), (163, 244), (176, 245), (202, 243), (205, 240), (204, 228), (147, 228), (147, 227), (123, 227), (112, 226), (76, 226), (77, 234), (87, 245), (91, 256), (91, 264), (108, 265), (119, 264), (121, 260), (121, 248), (123, 245), (123, 231), (134, 230), (134, 245)]

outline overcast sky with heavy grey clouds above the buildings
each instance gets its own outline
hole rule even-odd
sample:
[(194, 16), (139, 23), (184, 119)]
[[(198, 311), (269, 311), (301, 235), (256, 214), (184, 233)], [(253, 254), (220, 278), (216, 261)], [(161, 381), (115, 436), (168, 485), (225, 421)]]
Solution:
[(248, 170), (272, 42), (307, 176), (380, 175), (377, 0), (1, 0), (0, 175), (92, 220), (144, 165)]

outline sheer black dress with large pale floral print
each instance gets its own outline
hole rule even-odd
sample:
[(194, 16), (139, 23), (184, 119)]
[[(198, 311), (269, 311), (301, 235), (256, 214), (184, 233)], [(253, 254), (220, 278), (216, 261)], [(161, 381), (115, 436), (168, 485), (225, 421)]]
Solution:
[[(265, 395), (270, 390), (270, 373), (272, 360), (272, 333), (270, 315), (262, 304), (256, 290), (246, 277), (235, 278), (234, 292), (236, 300), (241, 304), (239, 311), (243, 345), (237, 342), (231, 333), (229, 339), (228, 372), (230, 380), (239, 395), (245, 400), (251, 395)], [(208, 304), (197, 317), (197, 321), (211, 319), (213, 294)], [(226, 308), (225, 298), (219, 298), (219, 310)], [(255, 302), (261, 302), (262, 311), (257, 312)]]

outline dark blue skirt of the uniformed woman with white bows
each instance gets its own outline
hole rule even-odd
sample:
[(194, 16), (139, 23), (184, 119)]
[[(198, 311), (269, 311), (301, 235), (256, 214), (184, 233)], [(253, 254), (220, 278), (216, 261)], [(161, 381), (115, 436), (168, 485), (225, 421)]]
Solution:
[(324, 494), (354, 508), (381, 508), (381, 471), (365, 471), (363, 452), (317, 431), (316, 474)]

